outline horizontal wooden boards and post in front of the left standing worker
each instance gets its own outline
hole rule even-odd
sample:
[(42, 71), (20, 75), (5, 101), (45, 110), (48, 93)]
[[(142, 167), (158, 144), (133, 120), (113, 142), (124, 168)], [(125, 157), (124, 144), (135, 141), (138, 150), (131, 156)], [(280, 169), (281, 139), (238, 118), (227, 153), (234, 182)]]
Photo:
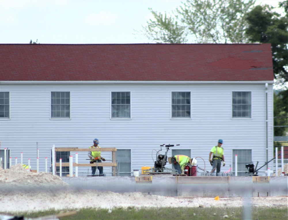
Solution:
[[(78, 147), (55, 147), (55, 158), (56, 158), (56, 151), (71, 151), (71, 152), (82, 152), (82, 151), (111, 151), (112, 152), (112, 163), (93, 163), (93, 164), (76, 164), (73, 163), (73, 166), (112, 166), (112, 176), (116, 176), (116, 151), (117, 149), (115, 147), (101, 147), (101, 148), (78, 148)], [(69, 163), (62, 163), (62, 166), (69, 166)], [(60, 166), (60, 163), (54, 164), (54, 166)]]

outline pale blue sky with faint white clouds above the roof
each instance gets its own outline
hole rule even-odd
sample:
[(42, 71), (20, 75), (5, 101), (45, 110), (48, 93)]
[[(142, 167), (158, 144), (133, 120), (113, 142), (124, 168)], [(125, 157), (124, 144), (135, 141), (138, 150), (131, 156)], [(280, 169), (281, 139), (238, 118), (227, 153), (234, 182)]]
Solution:
[[(280, 0), (256, 0), (278, 6)], [(153, 43), (137, 31), (183, 0), (0, 0), (0, 43)]]

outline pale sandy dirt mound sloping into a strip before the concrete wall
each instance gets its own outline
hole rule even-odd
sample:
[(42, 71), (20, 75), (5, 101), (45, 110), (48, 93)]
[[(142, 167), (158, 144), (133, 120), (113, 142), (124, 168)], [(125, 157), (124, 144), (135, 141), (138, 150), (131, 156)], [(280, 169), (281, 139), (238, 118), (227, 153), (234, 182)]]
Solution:
[[(139, 192), (75, 190), (51, 173), (27, 172), (20, 164), (0, 168), (0, 212), (35, 212), (79, 208), (239, 207), (245, 198), (200, 198), (147, 195)], [(287, 207), (287, 196), (250, 198), (253, 206)]]

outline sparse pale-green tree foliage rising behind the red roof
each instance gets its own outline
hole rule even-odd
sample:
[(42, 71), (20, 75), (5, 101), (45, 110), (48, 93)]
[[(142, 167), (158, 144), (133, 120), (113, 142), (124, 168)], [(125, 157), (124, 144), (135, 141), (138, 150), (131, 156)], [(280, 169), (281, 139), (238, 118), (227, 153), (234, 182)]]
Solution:
[(244, 43), (245, 14), (255, 0), (187, 0), (167, 17), (149, 10), (155, 20), (142, 34), (156, 43)]

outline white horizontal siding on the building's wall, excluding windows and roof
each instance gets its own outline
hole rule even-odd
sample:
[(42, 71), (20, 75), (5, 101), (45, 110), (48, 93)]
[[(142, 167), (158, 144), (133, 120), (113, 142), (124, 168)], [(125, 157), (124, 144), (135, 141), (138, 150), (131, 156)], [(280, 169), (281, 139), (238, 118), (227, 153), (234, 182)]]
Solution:
[[(12, 158), (20, 158), (22, 151), (24, 160), (29, 157), (31, 166), (36, 167), (38, 142), (42, 170), (44, 158), (50, 160), (53, 144), (56, 147), (87, 148), (94, 138), (99, 139), (102, 147), (132, 149), (132, 170), (141, 169), (141, 166), (153, 167), (155, 153), (164, 143), (180, 144), (175, 149), (191, 149), (192, 157), (203, 158), (206, 168), (210, 169), (208, 155), (219, 138), (224, 140), (226, 164), (231, 164), (232, 149), (253, 149), (253, 161), (259, 161), (260, 165), (266, 160), (264, 84), (2, 84), (1, 91), (4, 90), (10, 91), (11, 119), (0, 120), (1, 149), (9, 147)], [(71, 119), (50, 119), (51, 91), (71, 92)], [(130, 120), (110, 119), (111, 91), (131, 92)], [(170, 119), (171, 91), (191, 92), (191, 119)], [(232, 91), (252, 92), (252, 119), (231, 119)], [(270, 159), (272, 85), (268, 91)], [(162, 149), (164, 154), (165, 148)], [(156, 150), (153, 158), (152, 150)], [(111, 159), (109, 152), (103, 152), (102, 156)], [(79, 152), (78, 157), (80, 163), (87, 162), (87, 152)], [(198, 165), (204, 167), (201, 158)], [(79, 168), (79, 172), (87, 169)], [(228, 170), (229, 166), (221, 169)]]

